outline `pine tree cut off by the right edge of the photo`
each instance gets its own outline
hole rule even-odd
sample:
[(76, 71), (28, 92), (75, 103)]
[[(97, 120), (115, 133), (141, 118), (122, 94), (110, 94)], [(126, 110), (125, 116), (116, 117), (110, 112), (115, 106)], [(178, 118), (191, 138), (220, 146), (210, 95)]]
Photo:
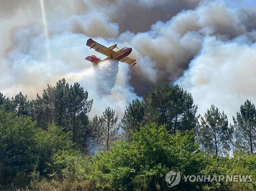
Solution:
[(253, 153), (256, 146), (256, 109), (251, 101), (246, 100), (237, 112), (235, 124), (236, 147), (243, 151)]

